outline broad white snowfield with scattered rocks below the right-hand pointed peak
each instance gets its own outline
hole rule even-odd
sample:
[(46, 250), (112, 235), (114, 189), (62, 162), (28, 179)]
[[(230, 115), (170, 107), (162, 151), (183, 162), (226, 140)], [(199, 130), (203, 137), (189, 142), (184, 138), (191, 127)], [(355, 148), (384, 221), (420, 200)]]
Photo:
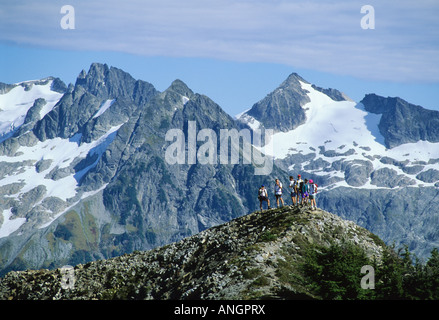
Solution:
[[(387, 101), (373, 95), (364, 100), (365, 106), (348, 98), (341, 99), (337, 90), (316, 87), (298, 80), (296, 75), (290, 77), (283, 85), (298, 81), (300, 88), (295, 90), (303, 90), (306, 99), (302, 101), (307, 102), (283, 113), (284, 118), (304, 120), (290, 130), (275, 130), (265, 149), (272, 150), (271, 156), (279, 166), (293, 175), (308, 174), (323, 190), (340, 186), (362, 189), (439, 186), (439, 143), (415, 139), (392, 148), (386, 143), (388, 133), (382, 119), (391, 117), (386, 110), (405, 110), (406, 102)], [(271, 95), (278, 94), (283, 85)], [(380, 105), (374, 107), (373, 99)], [(436, 113), (431, 116), (439, 119)], [(252, 129), (273, 128), (267, 125), (270, 121), (252, 117), (248, 111), (237, 118)]]

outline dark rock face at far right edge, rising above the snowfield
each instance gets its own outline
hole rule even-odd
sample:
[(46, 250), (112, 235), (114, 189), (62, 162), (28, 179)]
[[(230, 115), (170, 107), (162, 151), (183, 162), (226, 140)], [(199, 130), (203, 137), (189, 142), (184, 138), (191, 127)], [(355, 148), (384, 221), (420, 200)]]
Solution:
[(439, 111), (427, 110), (400, 98), (368, 94), (361, 103), (366, 111), (382, 114), (378, 125), (388, 148), (425, 140), (439, 142)]

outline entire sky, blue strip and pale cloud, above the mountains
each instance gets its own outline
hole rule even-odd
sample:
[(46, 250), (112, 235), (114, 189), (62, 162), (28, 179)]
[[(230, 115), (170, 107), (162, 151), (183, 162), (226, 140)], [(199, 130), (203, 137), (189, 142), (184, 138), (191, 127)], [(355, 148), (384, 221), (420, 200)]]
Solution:
[(439, 110), (438, 17), (437, 0), (0, 0), (0, 82), (74, 83), (100, 62), (235, 115), (296, 72)]

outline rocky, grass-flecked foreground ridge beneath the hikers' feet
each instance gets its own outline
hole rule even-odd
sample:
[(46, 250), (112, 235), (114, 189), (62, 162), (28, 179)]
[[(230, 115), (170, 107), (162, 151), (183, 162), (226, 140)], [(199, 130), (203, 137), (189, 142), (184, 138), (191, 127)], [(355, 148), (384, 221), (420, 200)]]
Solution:
[(308, 250), (334, 243), (378, 259), (385, 248), (336, 215), (284, 207), (151, 251), (78, 265), (69, 289), (61, 287), (60, 269), (11, 272), (0, 280), (0, 299), (316, 298), (300, 264)]

